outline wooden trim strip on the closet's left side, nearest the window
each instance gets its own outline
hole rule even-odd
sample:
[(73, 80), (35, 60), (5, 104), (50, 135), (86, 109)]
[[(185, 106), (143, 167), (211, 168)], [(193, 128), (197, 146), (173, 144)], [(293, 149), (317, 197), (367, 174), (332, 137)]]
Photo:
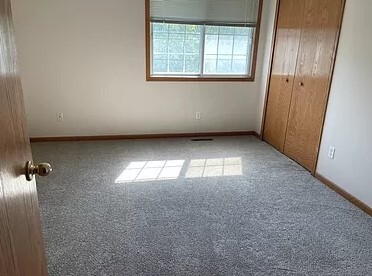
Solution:
[(276, 8), (275, 8), (275, 19), (274, 19), (274, 29), (273, 29), (273, 35), (272, 35), (272, 43), (271, 43), (271, 49), (270, 49), (270, 60), (269, 60), (269, 70), (267, 74), (267, 80), (266, 80), (266, 91), (265, 91), (265, 100), (264, 100), (264, 106), (262, 110), (262, 119), (261, 119), (261, 132), (260, 132), (260, 139), (264, 140), (264, 129), (265, 129), (265, 121), (266, 121), (266, 110), (267, 110), (267, 102), (269, 98), (269, 90), (270, 90), (270, 78), (271, 73), (273, 70), (273, 59), (274, 59), (274, 50), (275, 50), (275, 42), (276, 42), (276, 35), (277, 35), (277, 27), (278, 27), (278, 20), (279, 20), (279, 8), (280, 8), (280, 2), (281, 0), (276, 1)]

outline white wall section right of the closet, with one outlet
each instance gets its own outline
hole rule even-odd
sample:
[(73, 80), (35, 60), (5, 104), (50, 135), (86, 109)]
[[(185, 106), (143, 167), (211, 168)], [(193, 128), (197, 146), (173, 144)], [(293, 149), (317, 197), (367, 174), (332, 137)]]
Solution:
[(371, 0), (346, 1), (317, 171), (372, 207), (371, 11)]

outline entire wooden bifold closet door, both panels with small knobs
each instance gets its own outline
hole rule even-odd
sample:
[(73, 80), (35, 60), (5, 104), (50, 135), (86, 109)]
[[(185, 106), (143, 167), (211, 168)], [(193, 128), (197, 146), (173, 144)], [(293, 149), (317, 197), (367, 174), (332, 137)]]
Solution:
[(280, 0), (263, 138), (314, 172), (345, 0)]

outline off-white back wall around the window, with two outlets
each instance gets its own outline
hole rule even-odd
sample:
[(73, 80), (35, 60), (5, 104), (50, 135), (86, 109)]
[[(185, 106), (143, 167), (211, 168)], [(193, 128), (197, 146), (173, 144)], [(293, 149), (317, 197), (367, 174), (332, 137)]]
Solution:
[(154, 83), (144, 0), (13, 0), (30, 136), (259, 131), (273, 1), (264, 1), (256, 82)]

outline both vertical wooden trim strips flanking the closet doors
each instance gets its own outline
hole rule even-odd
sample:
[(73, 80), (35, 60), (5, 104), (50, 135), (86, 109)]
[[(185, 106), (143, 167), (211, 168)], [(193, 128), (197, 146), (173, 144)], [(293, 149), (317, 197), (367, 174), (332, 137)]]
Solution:
[[(268, 76), (267, 76), (264, 108), (263, 108), (263, 112), (262, 112), (263, 115), (262, 115), (262, 119), (261, 119), (261, 133), (259, 135), (260, 139), (263, 140), (263, 141), (265, 140), (264, 139), (264, 129), (265, 129), (265, 123), (266, 123), (267, 103), (268, 103), (269, 90), (270, 90), (270, 77), (271, 77), (271, 74), (272, 74), (272, 67), (273, 67), (273, 58), (274, 58), (274, 51), (275, 51), (275, 42), (276, 42), (276, 35), (277, 35), (277, 26), (278, 26), (278, 19), (279, 19), (280, 3), (281, 3), (281, 0), (277, 0), (276, 11), (275, 11), (274, 30), (273, 30), (271, 50), (270, 50), (269, 72), (268, 72)], [(338, 45), (339, 45), (339, 40), (340, 40), (340, 33), (341, 33), (342, 22), (343, 22), (344, 13), (345, 13), (345, 3), (346, 3), (346, 0), (342, 0), (341, 17), (340, 17), (339, 26), (338, 26), (338, 29), (337, 29), (337, 34), (336, 34), (334, 56), (332, 58), (333, 59), (333, 64), (332, 64), (331, 73), (330, 73), (331, 74), (330, 75), (331, 76), (330, 77), (330, 84), (329, 84), (329, 87), (328, 87), (326, 106), (325, 106), (323, 117), (322, 117), (322, 126), (321, 126), (321, 132), (320, 132), (321, 135), (320, 135), (320, 138), (319, 138), (319, 141), (318, 141), (316, 159), (315, 159), (313, 168), (310, 170), (310, 172), (313, 176), (316, 175), (316, 169), (317, 169), (318, 161), (319, 161), (320, 144), (321, 144), (322, 137), (323, 137), (325, 116), (327, 114), (329, 95), (330, 95), (330, 90), (331, 90), (331, 87), (332, 87), (333, 73), (334, 73), (335, 64), (336, 64)]]

